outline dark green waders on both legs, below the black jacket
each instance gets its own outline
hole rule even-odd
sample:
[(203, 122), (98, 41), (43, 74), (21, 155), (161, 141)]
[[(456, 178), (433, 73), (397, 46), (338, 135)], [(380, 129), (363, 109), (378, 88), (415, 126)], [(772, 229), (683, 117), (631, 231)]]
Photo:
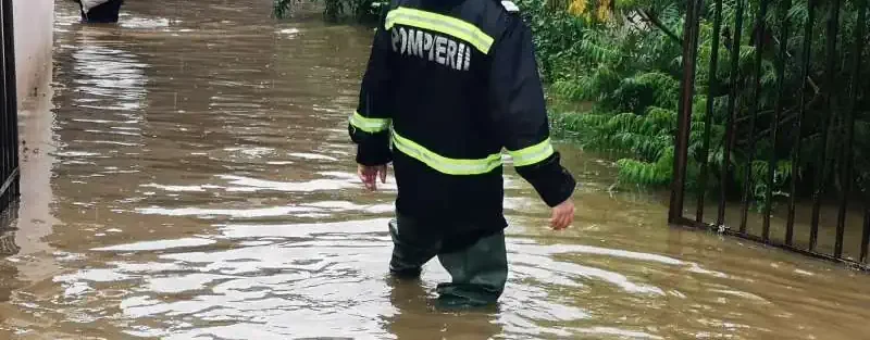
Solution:
[[(469, 226), (469, 230), (474, 230)], [(508, 259), (505, 231), (448, 234), (438, 225), (399, 215), (389, 223), (393, 237), (390, 272), (415, 278), (430, 260), (438, 256), (452, 280), (438, 285), (438, 302), (447, 306), (495, 303), (505, 291)], [(450, 228), (461, 230), (463, 228)]]

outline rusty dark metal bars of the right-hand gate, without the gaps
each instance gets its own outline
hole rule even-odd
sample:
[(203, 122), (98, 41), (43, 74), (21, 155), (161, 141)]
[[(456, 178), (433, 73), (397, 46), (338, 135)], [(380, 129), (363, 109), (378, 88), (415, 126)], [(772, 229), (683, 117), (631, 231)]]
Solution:
[[(751, 1), (751, 3), (747, 1)], [(863, 64), (865, 60), (862, 60), (861, 56), (866, 52), (865, 42), (868, 39), (866, 36), (868, 0), (794, 1), (806, 1), (806, 16), (801, 21), (796, 21), (791, 14), (793, 0), (735, 0), (733, 3), (734, 8), (732, 8), (734, 13), (733, 23), (723, 23), (725, 20), (722, 15), (723, 0), (713, 0), (712, 3), (708, 3), (706, 7), (703, 0), (687, 1), (685, 26), (683, 30), (683, 77), (680, 87), (681, 98), (678, 108), (678, 130), (674, 140), (674, 171), (669, 221), (671, 224), (675, 225), (712, 229), (725, 235), (758, 241), (805, 255), (846, 263), (863, 270), (870, 270), (870, 264), (868, 264), (868, 260), (870, 260), (868, 259), (870, 256), (870, 251), (868, 251), (870, 247), (870, 194), (868, 193), (861, 194), (861, 199), (863, 200), (861, 203), (863, 218), (861, 219), (860, 226), (860, 242), (858, 242), (860, 255), (858, 259), (844, 256), (844, 240), (847, 239), (846, 216), (848, 213), (849, 199), (852, 198), (852, 187), (857, 185), (855, 173), (856, 149), (854, 146), (856, 142), (856, 119), (867, 110), (866, 104), (863, 106), (861, 105), (861, 100), (863, 96), (867, 95), (865, 92), (870, 92), (870, 86), (868, 86), (870, 84), (868, 84), (866, 78), (860, 76), (860, 72), (866, 68)], [(848, 5), (850, 5), (850, 8)], [(773, 13), (775, 15), (770, 16), (771, 18), (769, 18), (768, 15), (770, 8), (772, 8), (771, 11), (775, 11), (775, 13)], [(704, 108), (706, 112), (706, 116), (704, 117), (705, 127), (700, 137), (703, 138), (703, 147), (699, 152), (699, 160), (695, 160), (700, 164), (697, 190), (693, 191), (697, 196), (697, 206), (694, 218), (689, 218), (685, 216), (686, 210), (684, 203), (687, 187), (687, 166), (688, 163), (693, 161), (689, 160), (688, 147), (692, 138), (693, 100), (695, 99), (695, 89), (697, 86), (696, 64), (698, 62), (698, 35), (705, 9), (707, 9), (712, 16), (712, 36), (710, 37), (712, 43), (709, 52), (710, 72), (708, 72), (709, 77), (706, 79), (706, 91), (703, 93), (707, 96), (706, 108)], [(750, 26), (744, 27), (744, 16), (746, 15), (747, 9), (753, 9), (756, 17), (749, 24)], [(822, 18), (824, 29), (823, 32), (819, 30), (820, 34), (823, 34), (821, 41), (823, 47), (820, 46), (823, 49), (823, 61), (813, 61), (813, 34), (817, 32), (813, 26), (817, 24), (817, 17), (819, 17), (817, 12), (822, 9), (826, 12), (823, 13), (824, 17)], [(849, 9), (852, 9), (852, 11), (849, 11)], [(852, 35), (846, 37), (845, 33), (847, 30), (842, 29), (841, 24), (844, 20), (852, 17), (856, 17), (855, 29), (850, 32)], [(779, 24), (779, 27), (776, 27), (776, 24)], [(803, 41), (799, 43), (799, 54), (796, 51), (795, 54), (798, 55), (794, 58), (788, 50), (788, 41), (792, 34), (790, 32), (791, 25), (799, 25), (800, 28), (803, 28), (795, 30), (798, 34), (803, 33)], [(754, 53), (754, 59), (750, 74), (748, 75), (744, 74), (744, 70), (742, 70), (739, 64), (739, 58), (743, 55), (742, 53), (745, 52), (742, 51), (742, 41), (744, 40), (743, 32), (746, 28), (751, 28), (753, 35), (749, 39), (753, 40), (751, 43), (754, 47), (754, 51), (750, 51)], [(844, 32), (844, 38), (842, 39), (843, 41), (837, 41), (841, 30)], [(724, 39), (726, 42), (730, 40), (729, 46), (724, 47), (729, 50), (728, 52), (730, 52), (730, 74), (725, 79), (720, 79), (717, 75), (717, 70), (719, 70), (718, 67), (720, 64), (720, 41), (722, 41), (720, 39)], [(772, 100), (773, 109), (766, 113), (766, 116), (771, 117), (769, 119), (771, 122), (771, 127), (769, 130), (759, 130), (760, 127), (762, 127), (758, 124), (762, 122), (759, 119), (761, 117), (760, 96), (763, 88), (761, 77), (765, 60), (762, 54), (766, 47), (770, 47), (771, 50), (773, 50), (770, 54), (772, 54), (772, 59), (774, 59), (772, 67), (774, 70), (773, 74), (776, 86), (775, 95), (773, 96), (774, 99)], [(795, 49), (797, 50), (797, 48)], [(841, 60), (837, 59), (840, 55), (847, 54), (843, 51), (848, 51), (852, 55), (846, 62), (841, 62)], [(795, 73), (797, 75), (790, 75), (785, 71), (790, 65), (790, 59), (796, 60), (797, 65), (795, 66), (798, 71)], [(812, 70), (813, 63), (823, 65), (821, 67), (823, 79), (821, 86), (815, 84), (811, 78), (816, 74)], [(837, 73), (842, 72), (838, 70), (840, 65), (844, 65), (842, 68), (848, 71), (848, 75), (850, 75), (848, 81), (841, 81), (838, 78)], [(795, 76), (799, 76), (800, 78), (794, 79)], [(748, 86), (742, 83), (744, 80), (746, 80)], [(787, 86), (787, 80), (798, 80), (796, 83), (799, 85), (790, 88)], [(842, 97), (841, 93), (837, 92), (837, 86), (840, 84), (846, 84), (848, 88), (847, 91), (843, 91), (846, 92), (846, 100), (842, 101), (846, 103), (845, 109), (841, 109), (837, 102), (838, 98)], [(745, 95), (745, 89), (748, 90), (746, 91), (748, 95), (743, 96)], [(714, 101), (720, 90), (726, 91), (726, 95), (723, 96), (726, 97), (726, 108), (725, 112), (722, 114), (723, 117), (720, 118), (720, 121), (723, 122), (714, 122)], [(817, 95), (821, 96), (823, 109), (826, 110), (821, 116), (821, 122), (818, 122), (818, 129), (816, 129), (815, 126), (807, 125), (808, 106), (810, 105), (808, 92), (810, 92), (810, 90), (815, 90)], [(791, 117), (785, 114), (785, 95), (788, 91), (799, 91), (796, 96), (797, 99), (794, 100), (797, 106), (795, 109), (796, 113), (792, 114)], [(746, 105), (748, 109), (744, 110), (742, 108), (742, 100), (748, 103), (748, 105)], [(746, 113), (744, 113), (744, 111), (746, 111)], [(748, 126), (744, 127), (742, 130), (737, 125), (743, 121), (747, 121)], [(790, 121), (791, 124), (785, 124)], [(711, 176), (711, 164), (709, 164), (710, 150), (712, 148), (711, 127), (716, 123), (724, 124), (724, 136), (721, 140), (722, 163), (721, 167), (717, 168), (719, 171), (718, 184), (713, 184), (718, 185), (716, 188), (718, 190), (718, 214), (714, 222), (707, 222), (705, 219), (705, 199), (710, 190), (708, 185), (711, 184), (709, 180)], [(761, 124), (763, 124), (763, 122)], [(808, 129), (809, 131), (807, 131)], [(813, 130), (818, 131), (813, 133)], [(788, 136), (790, 131), (792, 138), (784, 139), (783, 136)], [(745, 136), (745, 140), (738, 141), (738, 133)], [(821, 147), (818, 150), (818, 159), (811, 160), (816, 164), (815, 168), (812, 168), (815, 175), (812, 176), (812, 187), (810, 188), (810, 199), (812, 203), (811, 222), (809, 223), (807, 245), (801, 247), (795, 242), (796, 206), (799, 200), (798, 196), (800, 194), (800, 192), (798, 192), (800, 186), (798, 184), (799, 179), (797, 174), (799, 172), (800, 162), (806, 161), (801, 160), (801, 150), (804, 150), (801, 149), (801, 143), (805, 138), (809, 139), (810, 137), (820, 138), (819, 144)], [(771, 150), (769, 151), (770, 154), (768, 159), (765, 161), (756, 161), (757, 147), (761, 139), (766, 139), (766, 141), (770, 143)], [(783, 155), (782, 158), (778, 156), (778, 142), (788, 143), (790, 154)], [(829, 149), (834, 149), (835, 151), (829, 152)], [(736, 151), (743, 151), (745, 153), (743, 160), (734, 158)], [(733, 164), (735, 160), (743, 163)], [(776, 175), (776, 166), (780, 160), (791, 161), (783, 241), (774, 240), (774, 238), (771, 237), (773, 227), (771, 216), (773, 214), (774, 202), (773, 185)], [(755, 164), (759, 162), (766, 164), (767, 171), (756, 176), (754, 175)], [(730, 185), (729, 176), (738, 169), (743, 169), (743, 185), (741, 186), (742, 188), (739, 188), (741, 219), (739, 222), (729, 222), (725, 221), (730, 200), (728, 190)], [(833, 251), (825, 253), (819, 250), (818, 242), (822, 201), (825, 194), (830, 193), (828, 192), (829, 188), (826, 188), (830, 176), (838, 176), (840, 187), (842, 187), (842, 189), (836, 198), (837, 209), (836, 225), (833, 226), (835, 227)], [(735, 175), (735, 177), (737, 176)], [(763, 205), (761, 206), (763, 214), (762, 228), (760, 235), (757, 235), (753, 234), (747, 225), (750, 214), (749, 206), (753, 203), (753, 186), (761, 179), (766, 179), (767, 184), (762, 193), (765, 198)], [(736, 225), (738, 227), (735, 230), (730, 227), (730, 225)], [(857, 235), (853, 237), (857, 237)]]

